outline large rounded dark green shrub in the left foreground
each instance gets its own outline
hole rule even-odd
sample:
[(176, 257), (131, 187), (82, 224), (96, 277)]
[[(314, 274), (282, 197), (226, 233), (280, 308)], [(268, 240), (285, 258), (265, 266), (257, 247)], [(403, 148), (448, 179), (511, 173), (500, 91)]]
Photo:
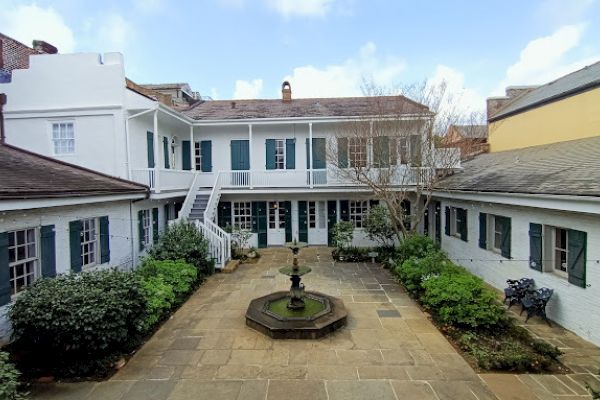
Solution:
[(73, 376), (101, 373), (135, 346), (145, 309), (136, 275), (104, 270), (36, 281), (17, 297), (9, 318), (15, 346), (33, 365)]

